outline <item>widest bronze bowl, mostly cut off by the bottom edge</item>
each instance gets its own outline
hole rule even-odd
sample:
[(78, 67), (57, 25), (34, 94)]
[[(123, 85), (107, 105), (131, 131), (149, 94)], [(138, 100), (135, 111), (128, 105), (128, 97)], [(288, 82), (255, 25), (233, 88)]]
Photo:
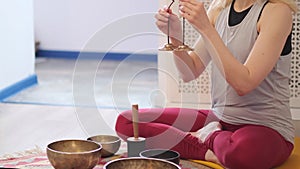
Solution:
[(131, 157), (112, 160), (103, 169), (180, 169), (179, 165), (157, 158)]

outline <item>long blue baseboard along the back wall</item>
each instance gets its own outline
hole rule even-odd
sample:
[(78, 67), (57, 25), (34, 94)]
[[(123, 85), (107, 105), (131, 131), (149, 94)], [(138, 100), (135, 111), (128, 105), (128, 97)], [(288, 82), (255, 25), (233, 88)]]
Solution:
[(38, 50), (37, 57), (63, 58), (63, 59), (103, 59), (103, 60), (140, 60), (157, 62), (157, 54), (137, 53), (101, 53), (101, 52), (78, 52), (78, 51), (54, 51)]

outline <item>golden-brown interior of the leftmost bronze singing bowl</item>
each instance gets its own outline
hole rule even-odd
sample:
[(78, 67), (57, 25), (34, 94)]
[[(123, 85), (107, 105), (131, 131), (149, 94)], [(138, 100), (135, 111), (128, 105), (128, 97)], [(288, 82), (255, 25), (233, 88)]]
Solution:
[(99, 151), (101, 145), (86, 140), (62, 140), (48, 145), (48, 149), (65, 153), (84, 153)]

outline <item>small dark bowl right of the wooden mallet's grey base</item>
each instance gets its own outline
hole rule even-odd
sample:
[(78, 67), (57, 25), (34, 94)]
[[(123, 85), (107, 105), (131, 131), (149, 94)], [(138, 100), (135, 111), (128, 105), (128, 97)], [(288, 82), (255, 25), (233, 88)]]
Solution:
[(140, 152), (140, 157), (158, 158), (162, 160), (171, 161), (175, 164), (180, 162), (180, 154), (177, 151), (166, 149), (149, 149)]

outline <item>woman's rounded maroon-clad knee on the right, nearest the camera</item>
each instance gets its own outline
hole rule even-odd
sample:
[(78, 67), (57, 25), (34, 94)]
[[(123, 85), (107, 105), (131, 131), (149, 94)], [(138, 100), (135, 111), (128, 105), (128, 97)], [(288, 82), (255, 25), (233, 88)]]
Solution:
[(261, 126), (221, 133), (215, 138), (214, 149), (221, 163), (231, 169), (269, 169), (286, 158), (277, 152), (289, 151), (279, 134)]

